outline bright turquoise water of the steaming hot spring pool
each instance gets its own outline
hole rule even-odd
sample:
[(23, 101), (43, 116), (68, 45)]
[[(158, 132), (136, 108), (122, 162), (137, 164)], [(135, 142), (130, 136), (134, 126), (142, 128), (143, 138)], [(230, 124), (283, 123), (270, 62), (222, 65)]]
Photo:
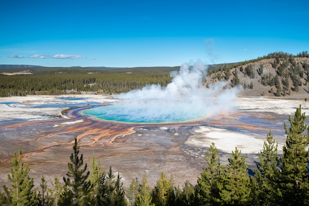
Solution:
[[(172, 112), (168, 112), (172, 111)], [(82, 114), (95, 118), (124, 123), (171, 123), (187, 122), (204, 117), (203, 114), (188, 113), (186, 110), (169, 110), (162, 107), (102, 106), (83, 110)]]

